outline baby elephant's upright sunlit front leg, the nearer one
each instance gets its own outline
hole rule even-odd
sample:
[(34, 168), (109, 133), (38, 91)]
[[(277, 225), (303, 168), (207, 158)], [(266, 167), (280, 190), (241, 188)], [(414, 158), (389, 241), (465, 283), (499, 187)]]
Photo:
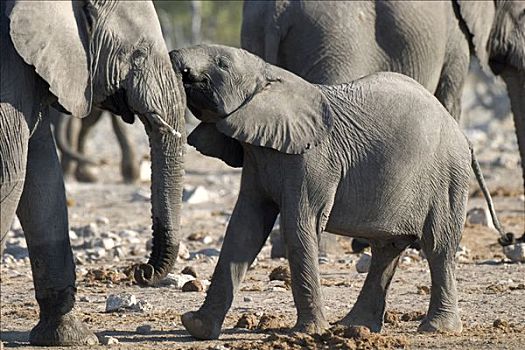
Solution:
[[(290, 219), (288, 219), (290, 218)], [(329, 327), (323, 312), (318, 264), (317, 225), (312, 216), (281, 213), (281, 227), (288, 249), (292, 292), (297, 308), (294, 331), (321, 333)]]

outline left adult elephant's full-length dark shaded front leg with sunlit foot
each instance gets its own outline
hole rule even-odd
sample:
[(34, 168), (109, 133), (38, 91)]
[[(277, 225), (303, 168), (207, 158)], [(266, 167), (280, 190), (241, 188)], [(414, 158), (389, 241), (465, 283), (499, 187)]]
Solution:
[(24, 229), (40, 320), (33, 345), (96, 344), (72, 314), (75, 264), (69, 243), (64, 182), (47, 116), (29, 141), (26, 181), (17, 210)]

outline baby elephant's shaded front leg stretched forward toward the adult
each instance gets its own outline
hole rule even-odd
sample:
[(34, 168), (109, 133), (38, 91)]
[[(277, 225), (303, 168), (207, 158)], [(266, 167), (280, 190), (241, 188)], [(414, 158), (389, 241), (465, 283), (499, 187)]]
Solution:
[(182, 315), (182, 324), (197, 339), (219, 337), (235, 292), (277, 217), (275, 205), (253, 197), (239, 195), (204, 304)]

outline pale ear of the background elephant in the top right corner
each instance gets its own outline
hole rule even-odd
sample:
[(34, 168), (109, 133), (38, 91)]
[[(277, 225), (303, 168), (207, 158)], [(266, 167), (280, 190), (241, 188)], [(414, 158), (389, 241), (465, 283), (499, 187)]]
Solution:
[(476, 56), (481, 66), (490, 71), (489, 50), (487, 48), (492, 23), (496, 14), (494, 1), (458, 0), (461, 18), (467, 25)]

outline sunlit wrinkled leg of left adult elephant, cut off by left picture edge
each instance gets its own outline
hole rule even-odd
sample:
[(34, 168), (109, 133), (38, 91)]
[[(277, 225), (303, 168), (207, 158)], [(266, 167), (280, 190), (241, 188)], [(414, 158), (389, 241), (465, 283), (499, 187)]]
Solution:
[(0, 257), (24, 188), (28, 140), (22, 114), (0, 104)]

